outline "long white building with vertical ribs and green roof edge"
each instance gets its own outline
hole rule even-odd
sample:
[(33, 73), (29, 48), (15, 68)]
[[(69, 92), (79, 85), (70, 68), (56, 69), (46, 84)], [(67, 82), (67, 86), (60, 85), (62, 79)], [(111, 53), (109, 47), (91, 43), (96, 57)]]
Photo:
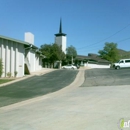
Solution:
[(7, 73), (14, 77), (15, 72), (17, 77), (22, 77), (42, 68), (43, 56), (34, 45), (33, 34), (26, 33), (25, 40), (0, 36), (0, 59), (4, 68), (2, 77), (7, 77)]

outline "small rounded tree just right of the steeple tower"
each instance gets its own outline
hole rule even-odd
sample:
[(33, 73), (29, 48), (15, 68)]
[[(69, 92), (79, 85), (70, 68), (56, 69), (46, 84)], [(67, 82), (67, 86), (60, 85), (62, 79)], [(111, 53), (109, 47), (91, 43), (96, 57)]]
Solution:
[(76, 48), (74, 46), (70, 46), (66, 49), (66, 58), (67, 60), (71, 60), (71, 63), (73, 64), (73, 60), (76, 58), (77, 56), (77, 51)]

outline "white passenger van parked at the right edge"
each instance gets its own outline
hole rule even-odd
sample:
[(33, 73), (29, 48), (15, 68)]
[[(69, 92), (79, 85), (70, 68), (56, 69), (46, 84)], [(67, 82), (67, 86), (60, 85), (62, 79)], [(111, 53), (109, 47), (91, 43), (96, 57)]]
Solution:
[(120, 69), (120, 68), (130, 68), (130, 59), (121, 59), (117, 63), (113, 64), (113, 68)]

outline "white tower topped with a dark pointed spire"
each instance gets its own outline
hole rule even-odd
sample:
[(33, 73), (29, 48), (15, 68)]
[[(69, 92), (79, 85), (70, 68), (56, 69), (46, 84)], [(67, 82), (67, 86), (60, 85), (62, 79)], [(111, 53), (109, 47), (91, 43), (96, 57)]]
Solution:
[(62, 51), (66, 54), (66, 34), (62, 33), (62, 21), (60, 19), (59, 33), (55, 34), (55, 43), (61, 46)]

